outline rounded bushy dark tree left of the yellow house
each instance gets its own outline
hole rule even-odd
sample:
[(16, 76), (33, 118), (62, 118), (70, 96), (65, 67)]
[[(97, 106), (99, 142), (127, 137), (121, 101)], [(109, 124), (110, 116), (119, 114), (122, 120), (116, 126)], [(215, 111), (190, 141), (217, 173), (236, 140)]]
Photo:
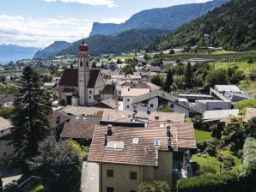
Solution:
[(56, 142), (49, 137), (40, 142), (39, 154), (30, 161), (29, 168), (46, 181), (47, 192), (77, 191), (82, 173), (81, 151), (72, 141)]

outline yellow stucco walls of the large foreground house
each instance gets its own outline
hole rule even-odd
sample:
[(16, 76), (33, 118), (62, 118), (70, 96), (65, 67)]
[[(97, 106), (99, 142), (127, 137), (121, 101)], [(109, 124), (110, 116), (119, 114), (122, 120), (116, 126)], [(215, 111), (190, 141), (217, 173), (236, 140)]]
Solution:
[[(171, 186), (173, 153), (159, 151), (157, 162), (157, 166), (100, 164), (100, 191), (107, 192), (107, 188), (122, 192), (137, 191), (140, 183), (153, 180), (165, 180)], [(112, 171), (113, 175), (110, 177), (107, 171)]]

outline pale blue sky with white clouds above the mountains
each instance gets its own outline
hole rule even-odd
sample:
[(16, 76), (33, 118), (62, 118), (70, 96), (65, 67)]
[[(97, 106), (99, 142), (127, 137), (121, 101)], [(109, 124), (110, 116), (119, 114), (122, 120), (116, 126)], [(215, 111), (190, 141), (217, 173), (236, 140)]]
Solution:
[(93, 22), (122, 23), (144, 9), (209, 0), (0, 0), (0, 45), (44, 48), (87, 38)]

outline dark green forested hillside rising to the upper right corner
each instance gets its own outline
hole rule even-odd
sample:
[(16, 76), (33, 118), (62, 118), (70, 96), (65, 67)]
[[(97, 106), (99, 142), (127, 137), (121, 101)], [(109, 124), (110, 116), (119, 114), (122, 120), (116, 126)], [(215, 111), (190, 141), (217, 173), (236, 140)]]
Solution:
[(152, 43), (148, 51), (200, 44), (234, 51), (256, 49), (256, 1), (232, 0), (223, 4)]

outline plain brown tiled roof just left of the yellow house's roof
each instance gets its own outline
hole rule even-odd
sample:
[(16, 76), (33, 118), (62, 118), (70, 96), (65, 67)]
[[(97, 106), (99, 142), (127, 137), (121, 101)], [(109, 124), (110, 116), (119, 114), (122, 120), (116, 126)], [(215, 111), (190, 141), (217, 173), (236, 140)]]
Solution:
[(62, 138), (92, 139), (95, 123), (68, 122), (60, 136)]

